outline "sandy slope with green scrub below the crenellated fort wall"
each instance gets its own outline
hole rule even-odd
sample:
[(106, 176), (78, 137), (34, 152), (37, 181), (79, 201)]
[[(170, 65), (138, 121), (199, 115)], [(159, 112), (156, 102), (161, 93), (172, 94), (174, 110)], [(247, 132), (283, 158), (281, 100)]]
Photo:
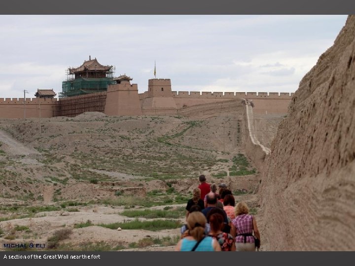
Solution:
[[(0, 120), (0, 248), (172, 250), (201, 173), (257, 217), (260, 172), (245, 155), (245, 107), (236, 104), (184, 117)], [(271, 137), (280, 118), (269, 120)]]

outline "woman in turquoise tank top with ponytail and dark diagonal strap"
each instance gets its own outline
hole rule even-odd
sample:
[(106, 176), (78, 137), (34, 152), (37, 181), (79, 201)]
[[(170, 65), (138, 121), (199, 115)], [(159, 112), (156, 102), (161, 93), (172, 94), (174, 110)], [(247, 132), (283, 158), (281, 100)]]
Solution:
[(199, 211), (194, 211), (187, 217), (188, 230), (183, 238), (178, 241), (176, 251), (221, 251), (217, 240), (212, 236), (206, 236), (206, 217)]

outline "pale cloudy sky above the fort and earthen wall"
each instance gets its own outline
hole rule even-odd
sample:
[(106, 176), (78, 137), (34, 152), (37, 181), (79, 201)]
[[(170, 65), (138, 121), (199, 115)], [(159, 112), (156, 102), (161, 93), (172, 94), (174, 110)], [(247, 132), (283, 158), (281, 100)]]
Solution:
[(173, 91), (295, 92), (346, 15), (0, 15), (0, 98), (62, 91), (68, 67), (96, 58)]

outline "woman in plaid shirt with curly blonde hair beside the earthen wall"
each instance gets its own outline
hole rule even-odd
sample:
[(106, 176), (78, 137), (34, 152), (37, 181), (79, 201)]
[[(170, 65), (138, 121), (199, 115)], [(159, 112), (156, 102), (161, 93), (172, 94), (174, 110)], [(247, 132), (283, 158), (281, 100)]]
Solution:
[(260, 239), (255, 218), (249, 214), (249, 208), (245, 202), (236, 206), (236, 218), (232, 220), (231, 233), (235, 237), (237, 251), (255, 251), (254, 235)]

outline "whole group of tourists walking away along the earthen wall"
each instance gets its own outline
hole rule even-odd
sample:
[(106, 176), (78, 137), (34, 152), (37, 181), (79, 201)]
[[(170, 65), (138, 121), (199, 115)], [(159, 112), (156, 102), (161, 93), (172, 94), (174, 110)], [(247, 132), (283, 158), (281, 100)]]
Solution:
[(226, 184), (208, 184), (205, 175), (186, 204), (186, 224), (181, 227), (177, 251), (255, 251), (260, 233), (248, 205), (235, 205)]

